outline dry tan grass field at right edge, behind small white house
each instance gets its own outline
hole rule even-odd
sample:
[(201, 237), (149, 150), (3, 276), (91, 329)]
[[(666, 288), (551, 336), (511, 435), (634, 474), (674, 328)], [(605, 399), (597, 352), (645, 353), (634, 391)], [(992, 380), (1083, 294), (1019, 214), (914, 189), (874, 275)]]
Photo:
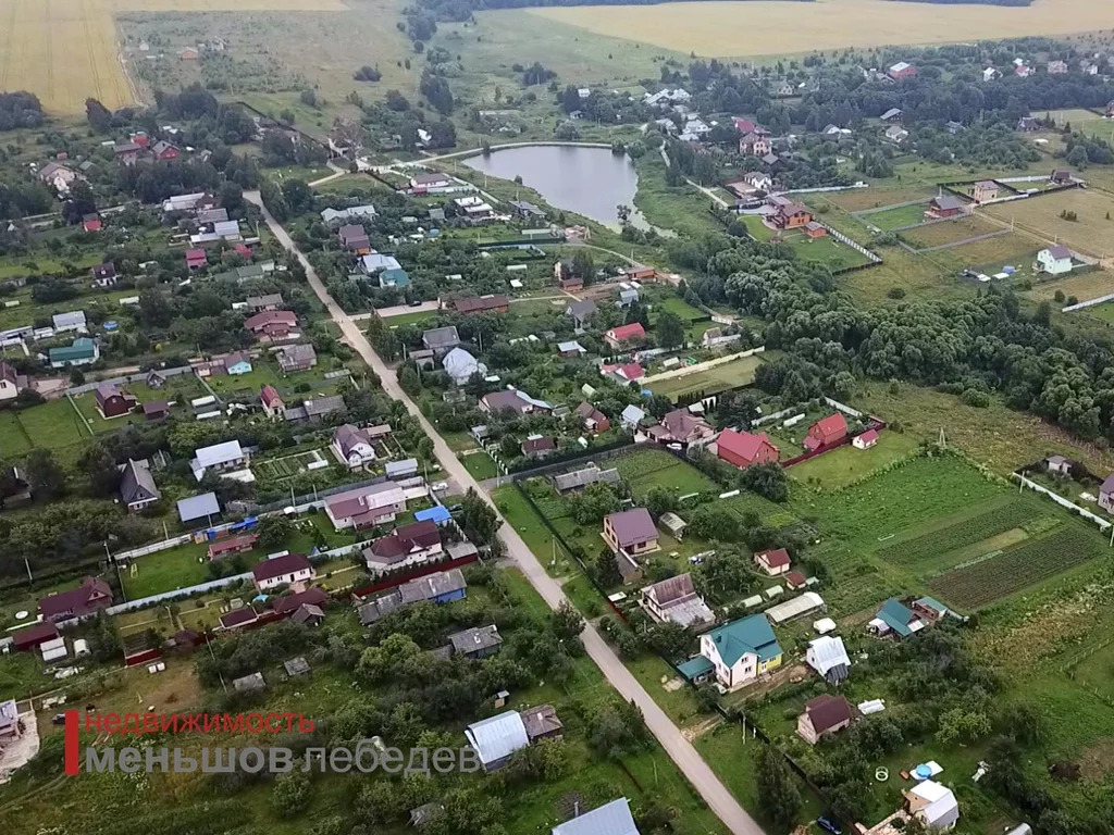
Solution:
[[(1004, 203), (984, 209), (986, 214), (1016, 223), (1019, 229), (1039, 235), (1096, 257), (1114, 254), (1114, 202), (1110, 195), (1079, 188), (1047, 197)], [(1077, 220), (1065, 220), (1061, 212), (1074, 212)]]

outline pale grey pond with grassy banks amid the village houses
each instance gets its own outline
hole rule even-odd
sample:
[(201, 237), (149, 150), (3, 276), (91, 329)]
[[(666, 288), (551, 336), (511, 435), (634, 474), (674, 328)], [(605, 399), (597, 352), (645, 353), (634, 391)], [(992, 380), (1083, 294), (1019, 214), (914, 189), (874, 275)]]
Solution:
[(618, 228), (616, 208), (629, 206), (629, 223), (639, 229), (649, 228), (646, 218), (634, 208), (638, 189), (634, 163), (625, 155), (612, 154), (610, 148), (536, 145), (494, 150), (487, 156), (478, 154), (461, 161), (500, 179), (521, 177), (522, 184), (538, 191), (550, 206), (575, 212), (613, 229)]

